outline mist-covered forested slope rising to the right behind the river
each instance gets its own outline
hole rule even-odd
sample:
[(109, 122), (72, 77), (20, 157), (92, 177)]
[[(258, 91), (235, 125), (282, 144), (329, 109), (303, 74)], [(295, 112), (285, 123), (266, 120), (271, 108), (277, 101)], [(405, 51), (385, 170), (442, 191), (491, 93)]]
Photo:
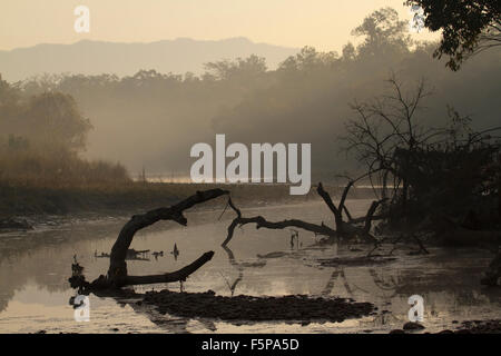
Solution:
[(478, 129), (499, 120), (499, 49), (450, 71), (445, 59), (433, 58), (436, 43), (415, 42), (407, 21), (389, 8), (367, 16), (353, 34), (358, 43), (341, 53), (305, 47), (276, 70), (250, 56), (207, 63), (202, 76), (144, 69), (122, 78), (39, 76), (13, 86), (24, 96), (71, 95), (94, 126), (87, 157), (120, 161), (135, 175), (144, 166), (188, 172), (189, 148), (226, 134), (233, 142), (312, 142), (313, 179), (328, 179), (354, 168), (337, 139), (355, 115), (350, 103), (384, 95), (391, 72), (409, 88), (422, 78), (433, 88), (423, 125), (445, 122), (448, 106), (471, 116)]

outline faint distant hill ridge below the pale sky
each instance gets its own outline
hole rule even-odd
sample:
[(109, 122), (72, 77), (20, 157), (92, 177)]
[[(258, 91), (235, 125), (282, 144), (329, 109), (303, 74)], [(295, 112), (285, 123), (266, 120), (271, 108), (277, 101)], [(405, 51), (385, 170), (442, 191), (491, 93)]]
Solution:
[(298, 51), (296, 48), (254, 43), (247, 38), (199, 41), (188, 38), (150, 43), (116, 43), (82, 40), (72, 44), (37, 44), (0, 51), (0, 73), (7, 81), (39, 73), (134, 75), (140, 69), (159, 72), (200, 73), (203, 65), (220, 59), (257, 55), (268, 68)]

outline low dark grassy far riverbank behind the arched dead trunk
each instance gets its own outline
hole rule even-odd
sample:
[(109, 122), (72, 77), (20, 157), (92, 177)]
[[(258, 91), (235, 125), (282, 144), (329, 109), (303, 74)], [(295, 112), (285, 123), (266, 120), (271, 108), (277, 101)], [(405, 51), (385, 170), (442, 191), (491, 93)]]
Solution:
[[(239, 206), (305, 202), (316, 199), (314, 188), (305, 196), (291, 196), (287, 185), (222, 185), (125, 182), (75, 187), (33, 187), (0, 184), (0, 219), (43, 215), (124, 215), (170, 206), (197, 190), (222, 188), (232, 192)], [(328, 187), (333, 197), (342, 188)], [(353, 189), (351, 198), (372, 197), (369, 188)], [(218, 204), (209, 202), (208, 206)]]

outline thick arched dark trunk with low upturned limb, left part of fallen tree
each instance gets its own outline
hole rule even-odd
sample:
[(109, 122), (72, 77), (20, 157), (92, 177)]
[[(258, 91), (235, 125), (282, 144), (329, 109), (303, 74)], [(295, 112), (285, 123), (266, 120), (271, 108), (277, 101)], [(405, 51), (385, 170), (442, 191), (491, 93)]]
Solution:
[(188, 220), (183, 215), (185, 210), (194, 207), (195, 205), (203, 204), (228, 194), (229, 191), (223, 189), (197, 191), (196, 195), (190, 196), (171, 207), (158, 208), (146, 214), (132, 216), (130, 220), (127, 221), (121, 228), (120, 234), (111, 248), (110, 264), (107, 275), (100, 275), (96, 280), (88, 283), (81, 274), (82, 267), (80, 267), (78, 263), (75, 263), (72, 265), (73, 275), (70, 278), (72, 287), (78, 287), (84, 290), (102, 290), (118, 289), (127, 285), (185, 280), (189, 275), (209, 261), (214, 256), (214, 251), (205, 253), (191, 264), (173, 273), (150, 276), (129, 276), (127, 273), (126, 257), (134, 236), (138, 230), (160, 220), (173, 220), (186, 226)]

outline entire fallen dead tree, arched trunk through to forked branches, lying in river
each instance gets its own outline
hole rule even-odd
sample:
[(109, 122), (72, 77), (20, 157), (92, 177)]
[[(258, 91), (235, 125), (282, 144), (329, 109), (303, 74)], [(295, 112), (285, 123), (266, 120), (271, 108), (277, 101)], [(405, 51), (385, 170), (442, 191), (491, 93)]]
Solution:
[[(88, 283), (85, 276), (81, 274), (82, 267), (76, 261), (72, 265), (73, 275), (70, 278), (70, 283), (73, 287), (80, 288), (81, 290), (105, 290), (105, 289), (119, 289), (120, 287), (128, 285), (144, 285), (144, 284), (156, 284), (156, 283), (171, 283), (171, 281), (183, 281), (189, 275), (195, 273), (198, 268), (204, 266), (209, 261), (214, 251), (207, 251), (202, 255), (198, 259), (191, 264), (185, 266), (184, 268), (166, 273), (161, 275), (149, 275), (149, 276), (130, 276), (127, 271), (127, 254), (129, 251), (130, 244), (132, 243), (136, 233), (143, 228), (146, 228), (160, 220), (173, 220), (183, 226), (187, 225), (187, 219), (183, 215), (185, 210), (194, 207), (195, 205), (206, 202), (212, 199), (216, 199), (220, 196), (228, 195), (228, 206), (236, 212), (237, 217), (228, 226), (228, 235), (225, 241), (222, 244), (224, 247), (230, 241), (234, 230), (238, 226), (246, 224), (256, 224), (256, 228), (268, 228), (268, 229), (285, 229), (285, 228), (301, 228), (307, 231), (312, 231), (315, 235), (326, 236), (330, 238), (334, 237), (365, 237), (370, 238), (372, 241), (377, 244), (377, 239), (373, 237), (370, 233), (371, 222), (374, 219), (374, 214), (377, 206), (382, 202), (374, 201), (364, 218), (352, 219), (347, 208), (345, 207), (345, 200), (347, 194), (353, 187), (354, 181), (350, 181), (343, 191), (340, 204), (336, 206), (331, 196), (326, 190), (324, 190), (322, 184), (317, 186), (317, 192), (323, 198), (330, 210), (334, 215), (334, 221), (336, 229), (328, 227), (325, 224), (311, 224), (299, 219), (291, 219), (283, 221), (268, 221), (262, 216), (246, 218), (242, 215), (242, 211), (234, 205), (232, 198), (229, 197), (229, 191), (223, 189), (210, 189), (206, 191), (197, 191), (196, 195), (186, 198), (185, 200), (174, 205), (171, 207), (163, 207), (147, 211), (146, 214), (135, 215), (129, 221), (121, 228), (117, 240), (115, 241), (111, 253), (109, 255), (110, 264), (107, 275), (100, 275), (97, 279)], [(343, 220), (342, 211), (345, 211), (348, 217), (348, 221)], [(363, 222), (362, 227), (357, 224)]]

